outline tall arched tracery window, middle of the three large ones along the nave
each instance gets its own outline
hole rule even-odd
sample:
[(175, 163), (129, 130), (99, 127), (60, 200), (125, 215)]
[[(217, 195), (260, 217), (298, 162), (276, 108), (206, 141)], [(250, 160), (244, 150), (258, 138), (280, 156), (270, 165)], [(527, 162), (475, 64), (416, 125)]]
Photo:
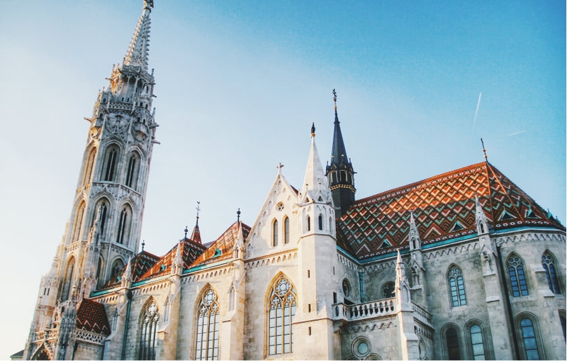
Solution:
[(218, 297), (212, 288), (203, 292), (198, 305), (195, 360), (218, 360)]

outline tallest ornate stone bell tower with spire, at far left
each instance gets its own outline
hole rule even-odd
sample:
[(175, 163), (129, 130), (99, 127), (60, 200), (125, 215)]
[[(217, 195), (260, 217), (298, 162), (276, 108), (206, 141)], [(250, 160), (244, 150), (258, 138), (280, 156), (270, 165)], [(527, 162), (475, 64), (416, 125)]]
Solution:
[[(32, 357), (35, 333), (60, 328), (47, 356), (69, 357), (64, 324), (74, 325), (83, 297), (101, 287), (136, 252), (155, 140), (153, 70), (148, 71), (150, 13), (145, 0), (130, 47), (99, 91), (67, 230), (43, 277), (24, 357)], [(38, 346), (35, 345), (35, 350)]]

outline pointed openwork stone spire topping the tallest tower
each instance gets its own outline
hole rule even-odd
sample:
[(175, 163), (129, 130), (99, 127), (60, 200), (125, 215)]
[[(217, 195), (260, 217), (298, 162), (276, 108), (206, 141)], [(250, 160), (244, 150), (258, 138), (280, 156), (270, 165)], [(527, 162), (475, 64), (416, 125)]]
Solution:
[(148, 52), (150, 50), (150, 13), (154, 7), (153, 0), (144, 1), (144, 9), (130, 43), (130, 48), (124, 57), (124, 65), (138, 65), (147, 70)]

